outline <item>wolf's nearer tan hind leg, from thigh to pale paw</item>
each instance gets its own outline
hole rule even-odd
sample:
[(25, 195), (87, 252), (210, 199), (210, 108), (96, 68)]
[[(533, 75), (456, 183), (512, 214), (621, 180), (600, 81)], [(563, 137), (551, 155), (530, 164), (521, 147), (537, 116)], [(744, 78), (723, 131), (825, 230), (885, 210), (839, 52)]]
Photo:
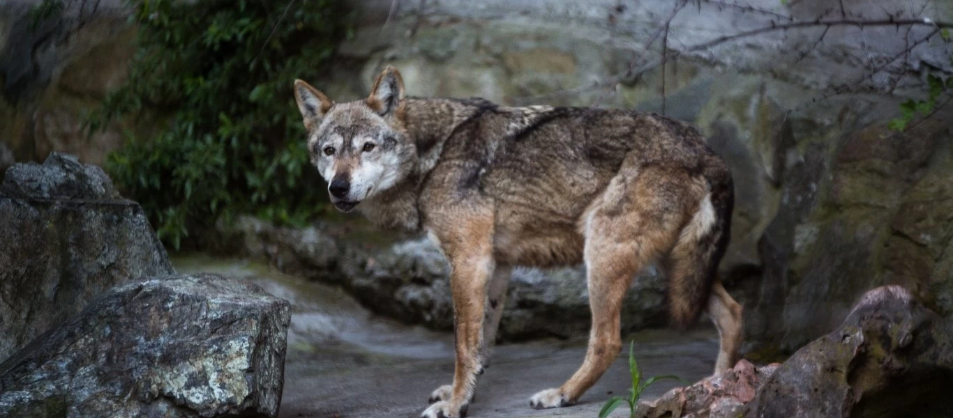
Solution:
[[(633, 178), (634, 177), (634, 178)], [(649, 168), (620, 173), (586, 211), (583, 231), (592, 329), (582, 366), (560, 388), (538, 392), (532, 408), (572, 405), (591, 388), (622, 348), (620, 310), (640, 269), (675, 245), (690, 192), (687, 175)]]

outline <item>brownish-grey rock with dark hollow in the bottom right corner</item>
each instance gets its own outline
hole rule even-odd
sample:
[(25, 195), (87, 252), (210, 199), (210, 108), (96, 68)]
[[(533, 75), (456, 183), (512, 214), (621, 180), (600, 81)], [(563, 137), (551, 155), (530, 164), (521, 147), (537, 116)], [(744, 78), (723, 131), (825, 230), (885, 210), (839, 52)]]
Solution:
[(953, 323), (886, 286), (784, 362), (744, 416), (953, 416), (951, 383)]

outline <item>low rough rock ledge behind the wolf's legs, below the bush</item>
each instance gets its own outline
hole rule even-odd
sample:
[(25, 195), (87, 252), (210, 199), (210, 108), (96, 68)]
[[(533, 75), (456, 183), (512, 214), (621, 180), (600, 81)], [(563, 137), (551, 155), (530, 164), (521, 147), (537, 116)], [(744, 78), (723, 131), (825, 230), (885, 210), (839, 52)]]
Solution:
[[(232, 246), (230, 252), (341, 286), (376, 313), (430, 328), (452, 328), (450, 268), (442, 252), (427, 238), (379, 232), (354, 221), (294, 229), (241, 217), (219, 230), (222, 241)], [(639, 275), (626, 294), (626, 330), (665, 324), (664, 290), (657, 269)], [(502, 340), (578, 337), (587, 335), (590, 321), (581, 267), (515, 269), (498, 335)]]

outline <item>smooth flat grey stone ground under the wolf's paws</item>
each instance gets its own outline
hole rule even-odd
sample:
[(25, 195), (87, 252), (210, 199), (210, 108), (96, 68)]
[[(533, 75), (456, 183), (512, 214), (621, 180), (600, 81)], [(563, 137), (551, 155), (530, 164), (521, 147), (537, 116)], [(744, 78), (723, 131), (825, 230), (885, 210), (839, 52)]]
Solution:
[[(377, 316), (342, 289), (281, 274), (238, 260), (173, 257), (181, 272), (209, 271), (252, 281), (292, 303), (285, 363), (282, 417), (416, 417), (427, 397), (453, 379), (453, 335), (410, 327)], [(702, 324), (705, 324), (702, 322)], [(577, 406), (536, 410), (531, 395), (558, 387), (582, 362), (586, 332), (570, 340), (540, 340), (497, 346), (480, 379), (468, 417), (586, 417), (598, 415), (611, 396), (631, 386), (624, 355)], [(694, 382), (714, 368), (717, 334), (700, 328), (688, 333), (642, 331), (635, 340), (646, 376), (677, 374)], [(661, 381), (643, 393), (659, 397), (675, 381)], [(618, 409), (613, 417), (625, 416)]]

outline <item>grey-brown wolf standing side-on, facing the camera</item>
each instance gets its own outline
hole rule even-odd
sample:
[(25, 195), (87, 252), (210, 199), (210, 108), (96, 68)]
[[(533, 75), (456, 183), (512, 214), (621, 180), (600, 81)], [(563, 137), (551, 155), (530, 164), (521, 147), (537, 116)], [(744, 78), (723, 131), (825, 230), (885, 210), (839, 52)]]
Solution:
[(577, 402), (609, 368), (625, 291), (653, 263), (666, 272), (671, 322), (689, 327), (707, 310), (720, 334), (715, 373), (734, 366), (741, 306), (716, 276), (734, 187), (698, 129), (624, 109), (407, 96), (390, 66), (363, 100), (335, 103), (301, 80), (294, 97), (334, 206), (425, 232), (450, 264), (454, 380), (422, 417), (466, 414), (514, 266), (585, 263), (592, 309), (581, 367), (532, 408)]

